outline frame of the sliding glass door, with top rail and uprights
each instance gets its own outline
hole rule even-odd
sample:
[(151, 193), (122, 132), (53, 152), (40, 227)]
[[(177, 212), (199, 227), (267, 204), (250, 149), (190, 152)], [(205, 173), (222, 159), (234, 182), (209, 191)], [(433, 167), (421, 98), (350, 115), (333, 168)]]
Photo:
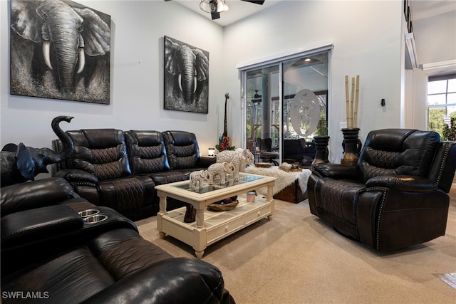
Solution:
[[(289, 61), (294, 58), (300, 58), (304, 56), (311, 56), (314, 53), (321, 53), (324, 51), (328, 51), (328, 95), (329, 91), (331, 88), (331, 56), (332, 56), (332, 51), (333, 51), (333, 44), (328, 44), (326, 46), (321, 46), (319, 48), (313, 48), (309, 51), (303, 51), (299, 53), (292, 53), (286, 56), (277, 56), (276, 58), (271, 58), (266, 61), (258, 61), (255, 63), (248, 63), (245, 65), (238, 65), (237, 69), (239, 70), (239, 78), (240, 78), (240, 86), (241, 86), (241, 111), (242, 111), (242, 147), (246, 148), (247, 147), (247, 72), (249, 70), (254, 70), (257, 68), (266, 68), (271, 65), (279, 65), (279, 109), (283, 111), (283, 100), (284, 100), (284, 75), (283, 75), (283, 62), (284, 61)], [(327, 98), (328, 98), (327, 95)], [(330, 124), (331, 120), (329, 119), (330, 117), (330, 110), (328, 108), (328, 135), (329, 135), (329, 130), (331, 130)], [(280, 115), (280, 126), (279, 126), (279, 134), (283, 135), (283, 113), (281, 112)], [(279, 140), (279, 163), (282, 162), (282, 141)]]

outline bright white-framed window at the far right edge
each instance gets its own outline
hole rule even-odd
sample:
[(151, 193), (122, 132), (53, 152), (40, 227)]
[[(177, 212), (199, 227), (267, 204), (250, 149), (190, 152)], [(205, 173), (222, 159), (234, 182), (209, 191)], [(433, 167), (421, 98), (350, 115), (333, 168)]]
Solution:
[(456, 140), (456, 73), (428, 78), (427, 129), (442, 140)]

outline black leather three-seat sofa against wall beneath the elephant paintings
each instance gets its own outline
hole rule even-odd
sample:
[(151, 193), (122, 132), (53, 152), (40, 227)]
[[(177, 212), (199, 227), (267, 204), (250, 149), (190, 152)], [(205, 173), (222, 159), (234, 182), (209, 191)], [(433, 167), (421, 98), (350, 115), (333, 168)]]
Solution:
[[(57, 164), (76, 193), (97, 206), (109, 206), (129, 219), (156, 215), (155, 185), (189, 179), (216, 159), (201, 157), (194, 133), (185, 131), (90, 129), (66, 131), (74, 152)], [(61, 150), (61, 140), (53, 149)], [(184, 206), (168, 200), (167, 208)]]

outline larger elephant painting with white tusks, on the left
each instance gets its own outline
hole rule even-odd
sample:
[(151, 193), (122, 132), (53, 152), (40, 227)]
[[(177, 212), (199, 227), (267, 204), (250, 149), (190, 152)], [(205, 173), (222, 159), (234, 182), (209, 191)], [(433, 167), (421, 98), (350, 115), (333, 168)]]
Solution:
[(11, 1), (11, 94), (109, 104), (110, 16), (73, 1)]

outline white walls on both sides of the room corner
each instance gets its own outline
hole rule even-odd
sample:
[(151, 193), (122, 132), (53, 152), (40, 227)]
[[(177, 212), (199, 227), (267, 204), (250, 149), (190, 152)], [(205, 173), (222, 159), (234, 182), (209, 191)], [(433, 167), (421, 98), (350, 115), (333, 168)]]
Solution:
[[(64, 130), (189, 130), (205, 154), (223, 130), (224, 93), (229, 135), (242, 146), (236, 65), (333, 43), (330, 75), (331, 162), (342, 153), (346, 120), (344, 76), (360, 75), (361, 140), (369, 130), (401, 126), (403, 1), (284, 1), (222, 28), (173, 1), (86, 1), (112, 19), (111, 103), (96, 105), (9, 95), (9, 43), (0, 46), (1, 147), (24, 142), (50, 147), (51, 120), (71, 115)], [(0, 0), (0, 38), (9, 41), (9, 1)], [(163, 36), (209, 51), (209, 114), (162, 110)], [(385, 98), (386, 106), (380, 106)], [(409, 107), (413, 108), (413, 107)], [(408, 125), (405, 125), (408, 127)]]

